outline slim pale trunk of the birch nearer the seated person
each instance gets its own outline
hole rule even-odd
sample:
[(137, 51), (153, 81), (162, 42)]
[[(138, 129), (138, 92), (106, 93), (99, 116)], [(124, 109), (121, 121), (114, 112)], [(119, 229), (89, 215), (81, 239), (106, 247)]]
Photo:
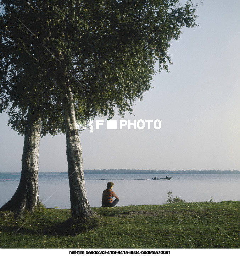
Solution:
[(62, 107), (67, 142), (68, 179), (72, 217), (77, 219), (90, 217), (94, 212), (90, 208), (86, 195), (82, 146), (76, 125), (73, 96), (69, 87), (66, 90), (62, 98)]

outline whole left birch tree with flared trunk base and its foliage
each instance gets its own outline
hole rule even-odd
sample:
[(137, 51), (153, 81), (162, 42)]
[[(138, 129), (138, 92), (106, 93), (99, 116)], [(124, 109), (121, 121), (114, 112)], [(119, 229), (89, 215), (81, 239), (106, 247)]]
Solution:
[[(24, 209), (33, 212), (39, 203), (40, 135), (48, 132), (52, 135), (56, 134), (58, 128), (52, 124), (56, 123), (54, 119), (61, 118), (61, 106), (59, 104), (59, 107), (53, 106), (54, 100), (49, 95), (49, 88), (52, 86), (51, 77), (49, 76), (46, 82), (44, 69), (41, 68), (43, 66), (46, 68), (50, 61), (43, 61), (44, 53), (39, 49), (39, 42), (34, 49), (29, 48), (32, 37), (26, 34), (26, 28), (16, 18), (19, 16), (25, 22), (26, 18), (19, 15), (19, 12), (23, 12), (28, 17), (29, 23), (33, 21), (29, 15), (29, 5), (25, 3), (21, 11), (16, 11), (16, 6), (11, 5), (10, 8), (14, 12), (5, 8), (6, 11), (2, 12), (0, 17), (0, 112), (7, 111), (10, 116), (9, 125), (19, 135), (24, 135), (24, 145), (18, 188), (10, 201), (0, 210), (16, 212), (18, 218)], [(35, 56), (42, 61), (40, 62)], [(59, 114), (54, 113), (50, 120), (46, 115), (46, 109), (53, 109)]]

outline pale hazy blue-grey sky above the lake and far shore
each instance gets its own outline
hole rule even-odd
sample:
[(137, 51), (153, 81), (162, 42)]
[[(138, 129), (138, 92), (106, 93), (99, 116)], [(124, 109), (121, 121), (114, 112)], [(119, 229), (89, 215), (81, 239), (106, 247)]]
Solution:
[[(184, 1), (181, 1), (184, 2)], [(194, 3), (200, 1), (193, 1)], [(240, 170), (240, 1), (206, 0), (196, 28), (183, 28), (169, 53), (170, 73), (124, 120), (161, 120), (161, 129), (131, 126), (80, 134), (84, 169)], [(24, 137), (0, 114), (0, 172), (21, 171)], [(128, 121), (129, 123), (129, 121)], [(67, 171), (66, 137), (40, 140), (39, 171)]]

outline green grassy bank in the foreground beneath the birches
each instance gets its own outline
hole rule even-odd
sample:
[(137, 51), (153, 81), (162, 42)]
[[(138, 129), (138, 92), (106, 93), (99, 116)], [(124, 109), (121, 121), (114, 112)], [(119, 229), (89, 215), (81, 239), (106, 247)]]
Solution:
[(0, 248), (239, 248), (240, 201), (70, 209), (41, 207), (14, 220), (1, 214)]

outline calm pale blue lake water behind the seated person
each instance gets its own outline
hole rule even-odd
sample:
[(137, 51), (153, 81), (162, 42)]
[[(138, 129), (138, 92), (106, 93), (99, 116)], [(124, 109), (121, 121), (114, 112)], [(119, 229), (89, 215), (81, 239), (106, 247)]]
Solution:
[[(166, 175), (154, 175), (164, 178)], [(169, 176), (169, 175), (168, 175)], [(238, 174), (175, 174), (171, 180), (152, 180), (151, 174), (85, 174), (91, 207), (100, 207), (108, 181), (119, 197), (117, 206), (155, 205), (167, 202), (167, 192), (187, 202), (240, 200)], [(19, 184), (19, 175), (0, 175), (0, 206), (10, 200)], [(39, 174), (39, 199), (49, 208), (70, 208), (67, 175)]]

